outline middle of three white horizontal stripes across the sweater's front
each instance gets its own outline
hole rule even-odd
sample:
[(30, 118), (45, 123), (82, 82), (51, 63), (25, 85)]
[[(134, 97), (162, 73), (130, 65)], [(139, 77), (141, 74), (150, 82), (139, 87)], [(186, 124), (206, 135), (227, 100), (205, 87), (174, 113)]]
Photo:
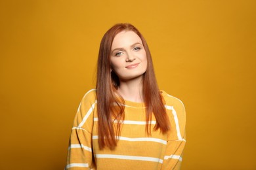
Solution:
[[(93, 136), (93, 139), (98, 139), (98, 136)], [(155, 142), (155, 143), (162, 143), (167, 144), (167, 141), (153, 138), (153, 137), (137, 137), (137, 138), (130, 138), (130, 137), (116, 137), (116, 139), (119, 139), (121, 141), (129, 141), (129, 142)]]

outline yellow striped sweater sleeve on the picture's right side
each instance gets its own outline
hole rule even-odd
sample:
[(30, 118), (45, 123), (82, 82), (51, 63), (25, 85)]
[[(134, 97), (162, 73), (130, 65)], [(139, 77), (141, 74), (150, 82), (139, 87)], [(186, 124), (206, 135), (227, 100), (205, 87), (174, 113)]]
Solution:
[(167, 107), (167, 112), (169, 113), (171, 129), (167, 134), (167, 146), (162, 169), (181, 169), (182, 153), (186, 143), (186, 112), (181, 101), (178, 105)]

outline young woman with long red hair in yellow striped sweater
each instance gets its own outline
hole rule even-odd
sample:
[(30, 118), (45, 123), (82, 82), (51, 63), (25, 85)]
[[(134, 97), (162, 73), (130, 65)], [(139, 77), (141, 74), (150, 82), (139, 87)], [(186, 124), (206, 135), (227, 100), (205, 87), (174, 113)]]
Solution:
[(144, 37), (116, 24), (100, 43), (96, 89), (75, 115), (66, 169), (179, 169), (185, 124), (182, 102), (158, 89)]

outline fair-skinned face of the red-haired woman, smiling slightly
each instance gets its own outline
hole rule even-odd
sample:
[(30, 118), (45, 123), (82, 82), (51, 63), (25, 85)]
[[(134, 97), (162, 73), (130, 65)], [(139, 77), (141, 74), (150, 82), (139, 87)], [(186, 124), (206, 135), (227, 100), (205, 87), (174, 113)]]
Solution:
[(120, 81), (143, 76), (147, 68), (146, 51), (133, 31), (121, 31), (112, 42), (110, 64)]

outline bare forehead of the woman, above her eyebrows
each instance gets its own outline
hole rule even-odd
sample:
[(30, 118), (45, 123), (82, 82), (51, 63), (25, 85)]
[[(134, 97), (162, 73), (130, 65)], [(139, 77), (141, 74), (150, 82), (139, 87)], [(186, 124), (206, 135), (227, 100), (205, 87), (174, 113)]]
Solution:
[(133, 31), (121, 31), (120, 33), (117, 33), (116, 37), (114, 38), (112, 42), (112, 49), (131, 46), (137, 42), (142, 44), (142, 41), (137, 33)]

